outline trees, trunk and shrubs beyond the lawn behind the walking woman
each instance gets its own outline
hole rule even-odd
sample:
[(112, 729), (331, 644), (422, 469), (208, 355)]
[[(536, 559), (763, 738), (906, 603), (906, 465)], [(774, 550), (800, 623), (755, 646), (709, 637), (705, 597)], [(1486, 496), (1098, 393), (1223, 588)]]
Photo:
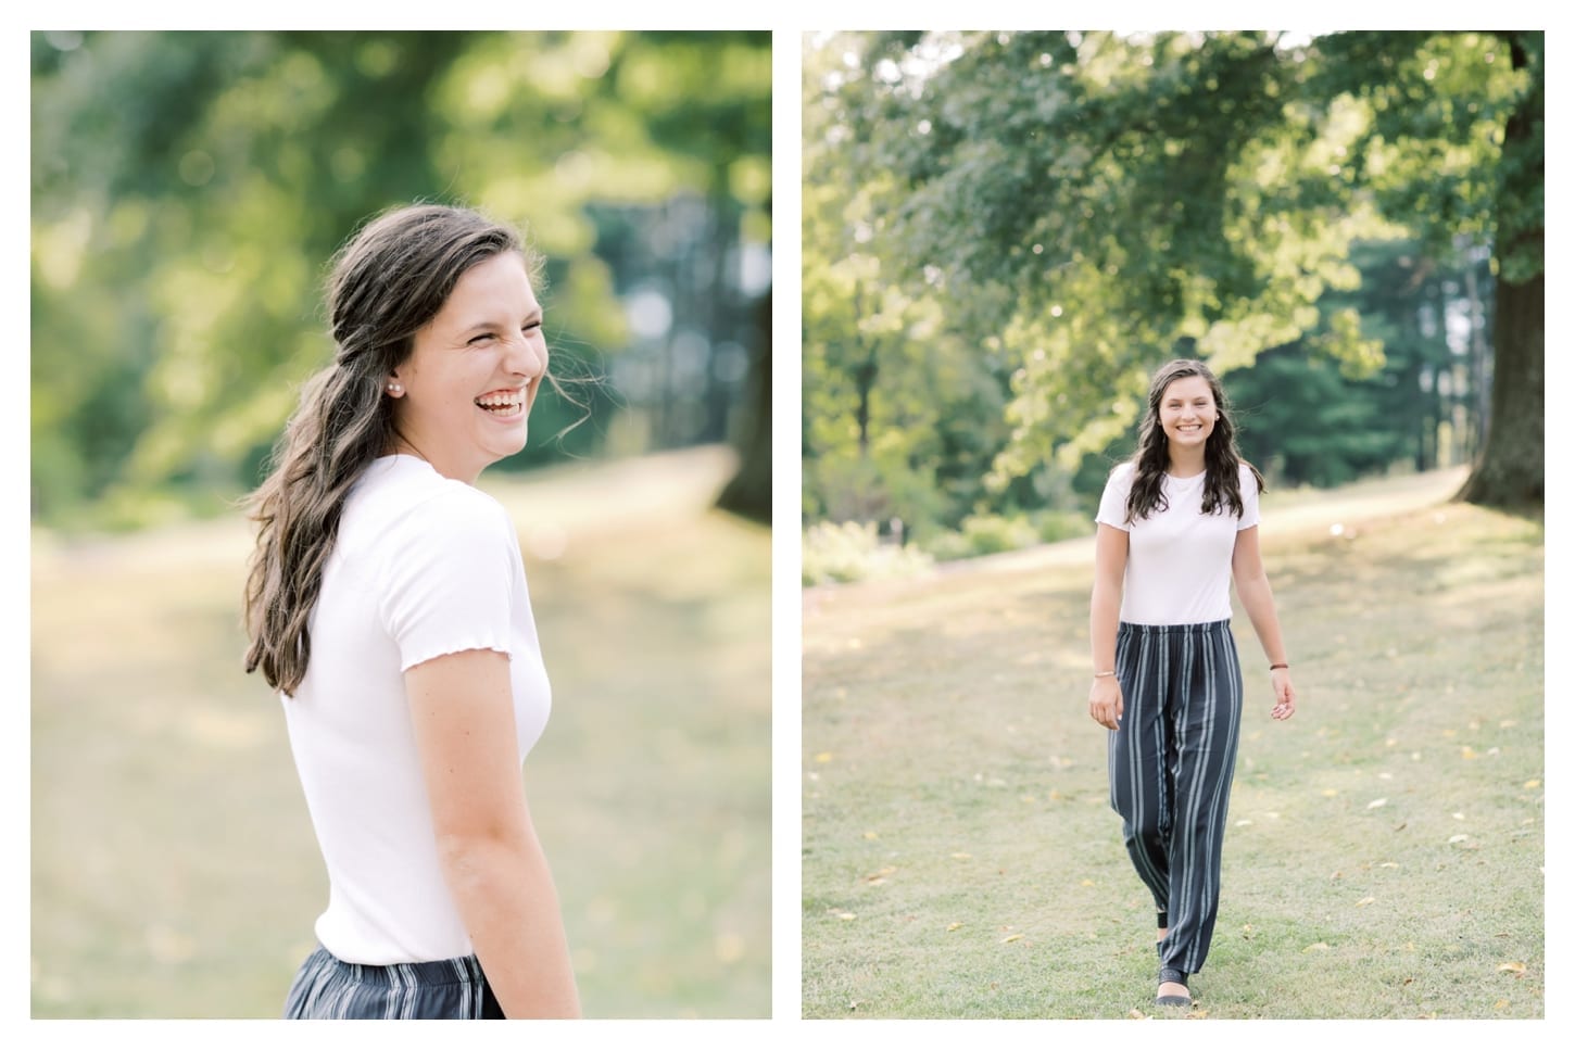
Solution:
[(1540, 510), (1542, 83), (1537, 31), (808, 35), (805, 578), (1087, 534), (1175, 356), (1271, 486)]

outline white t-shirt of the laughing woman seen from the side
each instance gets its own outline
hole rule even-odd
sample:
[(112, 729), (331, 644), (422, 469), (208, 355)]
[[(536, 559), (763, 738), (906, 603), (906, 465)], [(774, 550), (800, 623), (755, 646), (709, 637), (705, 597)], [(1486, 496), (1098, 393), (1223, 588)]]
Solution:
[(375, 460), (345, 501), (310, 620), (290, 746), (328, 866), (323, 948), (389, 965), (471, 954), (438, 863), (403, 672), (471, 649), (509, 655), (520, 757), (551, 707), (507, 512), (416, 457)]

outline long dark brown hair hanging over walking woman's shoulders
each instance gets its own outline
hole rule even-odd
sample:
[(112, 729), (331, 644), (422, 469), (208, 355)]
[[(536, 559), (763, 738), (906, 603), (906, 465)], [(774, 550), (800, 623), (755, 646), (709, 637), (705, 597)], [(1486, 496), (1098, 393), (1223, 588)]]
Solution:
[[(1137, 434), (1137, 452), (1132, 453), (1132, 490), (1126, 496), (1126, 521), (1131, 524), (1139, 518), (1159, 513), (1170, 507), (1166, 499), (1164, 479), (1170, 468), (1170, 447), (1166, 428), (1159, 422), (1159, 403), (1166, 397), (1166, 389), (1177, 379), (1202, 376), (1208, 383), (1210, 394), (1214, 395), (1214, 430), (1203, 446), (1203, 513), (1211, 515), (1221, 507), (1230, 507), (1230, 513), (1241, 516), (1241, 452), (1236, 449), (1236, 427), (1230, 419), (1230, 403), (1219, 379), (1202, 360), (1177, 359), (1159, 368), (1148, 384), (1148, 412)], [(1263, 491), (1263, 475), (1258, 468), (1247, 463), (1252, 479)]]

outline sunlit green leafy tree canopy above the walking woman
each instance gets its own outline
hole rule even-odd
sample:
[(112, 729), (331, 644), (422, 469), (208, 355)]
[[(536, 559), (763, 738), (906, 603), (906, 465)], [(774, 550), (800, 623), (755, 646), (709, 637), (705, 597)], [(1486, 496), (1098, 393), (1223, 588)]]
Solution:
[[(1466, 298), (1460, 275), (1487, 260), (1476, 302), (1495, 310), (1499, 367), (1477, 372), (1507, 398), (1488, 430), (1539, 422), (1477, 497), (1540, 501), (1540, 365), (1517, 353), (1529, 342), (1540, 362), (1540, 33), (862, 33), (805, 55), (806, 483), (879, 469), (884, 438), (860, 420), (914, 400), (860, 384), (920, 383), (914, 354), (948, 346), (1003, 400), (975, 416), (992, 449), (975, 502), (992, 507), (1025, 479), (1044, 496), (1107, 466), (1170, 356), (1210, 360), (1227, 387), (1271, 349), (1301, 362), (1292, 383), (1326, 367), (1329, 390), (1465, 368), (1402, 345), (1414, 326), (1395, 310), (1419, 299), (1375, 302), (1369, 274), (1394, 260), (1362, 246), (1389, 242), (1406, 294), (1433, 275), (1425, 309), (1443, 309), (1446, 275)], [(1529, 313), (1507, 346), (1506, 315)], [(929, 408), (972, 384), (929, 381)], [(891, 422), (890, 441), (937, 436), (923, 414)], [(838, 449), (849, 434), (868, 457)], [(828, 513), (817, 491), (806, 512)]]

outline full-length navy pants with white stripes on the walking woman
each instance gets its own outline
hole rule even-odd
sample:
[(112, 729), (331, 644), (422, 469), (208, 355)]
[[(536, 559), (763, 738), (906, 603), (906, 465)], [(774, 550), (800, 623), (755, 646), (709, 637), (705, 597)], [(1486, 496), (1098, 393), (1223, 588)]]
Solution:
[(1241, 726), (1230, 620), (1126, 623), (1115, 634), (1120, 729), (1110, 806), (1137, 877), (1154, 896), (1161, 967), (1197, 973), (1219, 911), (1219, 853)]

